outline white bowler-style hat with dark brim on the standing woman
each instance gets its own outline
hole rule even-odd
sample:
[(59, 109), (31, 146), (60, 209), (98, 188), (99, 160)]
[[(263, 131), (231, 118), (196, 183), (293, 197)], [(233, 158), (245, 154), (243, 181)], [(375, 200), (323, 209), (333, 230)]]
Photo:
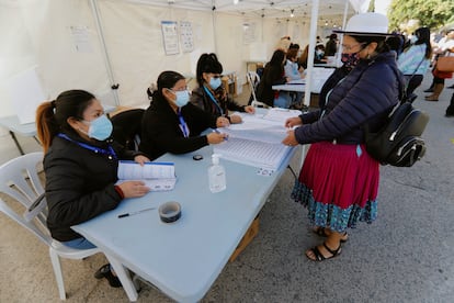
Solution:
[(333, 31), (345, 35), (360, 36), (390, 36), (388, 34), (388, 19), (375, 12), (359, 13), (350, 18), (345, 30)]

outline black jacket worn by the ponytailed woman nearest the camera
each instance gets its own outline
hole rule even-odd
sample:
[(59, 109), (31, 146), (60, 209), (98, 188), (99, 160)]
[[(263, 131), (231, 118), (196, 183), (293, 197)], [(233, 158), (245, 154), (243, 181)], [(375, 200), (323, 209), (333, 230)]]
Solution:
[[(75, 134), (71, 139), (106, 149), (105, 142), (86, 142)], [(133, 159), (137, 153), (113, 145), (117, 157)], [(81, 237), (70, 226), (83, 223), (115, 209), (122, 198), (114, 189), (118, 160), (87, 149), (75, 142), (56, 136), (44, 157), (47, 226), (52, 237), (67, 242)]]

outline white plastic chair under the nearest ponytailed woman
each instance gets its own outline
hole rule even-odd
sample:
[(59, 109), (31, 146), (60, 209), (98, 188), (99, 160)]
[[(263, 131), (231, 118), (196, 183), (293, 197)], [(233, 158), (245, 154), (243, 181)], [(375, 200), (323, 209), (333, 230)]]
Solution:
[(61, 300), (66, 300), (60, 259), (83, 259), (101, 252), (98, 248), (73, 249), (53, 239), (46, 227), (47, 201), (39, 181), (37, 167), (43, 161), (43, 153), (26, 154), (0, 166), (0, 193), (9, 195), (25, 207), (21, 215), (18, 207), (10, 207), (0, 199), (0, 211), (33, 233), (49, 247), (50, 261), (57, 280)]

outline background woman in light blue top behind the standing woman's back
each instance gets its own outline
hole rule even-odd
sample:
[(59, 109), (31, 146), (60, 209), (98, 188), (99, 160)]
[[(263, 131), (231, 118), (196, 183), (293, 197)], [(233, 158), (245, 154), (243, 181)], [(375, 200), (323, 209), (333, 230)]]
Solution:
[(397, 66), (407, 81), (407, 98), (411, 101), (417, 97), (413, 91), (421, 85), (431, 58), (430, 30), (429, 27), (419, 27), (411, 36), (410, 46), (404, 49), (397, 59)]

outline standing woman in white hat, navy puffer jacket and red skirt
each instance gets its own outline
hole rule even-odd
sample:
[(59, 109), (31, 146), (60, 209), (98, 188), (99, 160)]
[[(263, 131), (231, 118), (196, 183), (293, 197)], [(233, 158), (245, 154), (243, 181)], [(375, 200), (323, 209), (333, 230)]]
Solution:
[(379, 162), (364, 146), (364, 125), (383, 125), (404, 88), (395, 53), (385, 43), (387, 19), (378, 13), (354, 15), (342, 44), (343, 67), (328, 80), (318, 111), (286, 121), (286, 145), (311, 144), (292, 198), (308, 210), (314, 232), (326, 237), (307, 249), (321, 261), (338, 256), (348, 228), (377, 215)]

